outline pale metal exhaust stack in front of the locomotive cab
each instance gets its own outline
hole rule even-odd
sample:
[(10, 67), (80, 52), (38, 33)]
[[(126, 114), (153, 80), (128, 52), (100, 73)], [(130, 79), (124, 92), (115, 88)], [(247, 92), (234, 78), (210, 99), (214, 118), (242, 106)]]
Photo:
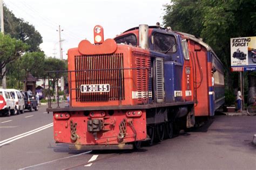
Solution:
[(143, 49), (149, 49), (149, 25), (139, 25), (139, 46)]

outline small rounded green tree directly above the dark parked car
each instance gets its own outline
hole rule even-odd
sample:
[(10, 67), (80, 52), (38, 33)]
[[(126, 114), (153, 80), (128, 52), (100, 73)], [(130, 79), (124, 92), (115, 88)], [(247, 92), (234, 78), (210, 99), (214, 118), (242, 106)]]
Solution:
[(25, 86), (31, 73), (34, 77), (42, 77), (44, 73), (45, 55), (43, 52), (27, 52), (19, 60), (19, 69), (25, 71)]

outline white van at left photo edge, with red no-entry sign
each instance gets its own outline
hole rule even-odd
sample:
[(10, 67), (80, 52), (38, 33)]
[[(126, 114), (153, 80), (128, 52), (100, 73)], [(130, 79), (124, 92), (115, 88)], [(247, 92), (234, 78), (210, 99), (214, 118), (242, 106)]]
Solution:
[(0, 113), (10, 116), (11, 114), (17, 114), (15, 109), (16, 102), (12, 94), (6, 89), (0, 89)]

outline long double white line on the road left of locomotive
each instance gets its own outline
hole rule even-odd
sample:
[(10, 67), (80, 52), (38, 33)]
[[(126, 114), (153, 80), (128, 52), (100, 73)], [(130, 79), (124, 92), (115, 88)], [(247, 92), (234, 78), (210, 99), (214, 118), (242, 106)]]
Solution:
[(51, 126), (53, 126), (53, 123), (50, 123), (50, 124), (45, 125), (45, 126), (42, 126), (42, 127), (38, 127), (38, 128), (36, 128), (35, 130), (29, 131), (29, 132), (25, 132), (25, 133), (16, 135), (15, 137), (11, 137), (11, 138), (9, 138), (9, 139), (2, 140), (2, 141), (0, 141), (0, 146), (3, 146), (3, 145), (5, 145), (5, 144), (9, 144), (9, 143), (12, 142), (12, 141), (15, 141), (15, 140), (17, 140), (17, 139), (21, 139), (21, 138), (23, 138), (23, 137), (26, 137), (27, 135), (30, 135), (30, 134), (33, 134), (33, 133), (42, 131), (42, 130), (44, 130), (45, 128), (49, 128), (49, 127), (51, 127)]

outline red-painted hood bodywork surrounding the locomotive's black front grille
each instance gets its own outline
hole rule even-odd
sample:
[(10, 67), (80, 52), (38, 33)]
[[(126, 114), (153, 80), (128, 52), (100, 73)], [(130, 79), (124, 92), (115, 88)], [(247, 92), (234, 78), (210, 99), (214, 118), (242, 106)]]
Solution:
[[(102, 44), (103, 45), (103, 44)], [(123, 68), (124, 70), (124, 96), (125, 99), (122, 100), (122, 105), (137, 105), (142, 104), (147, 101), (147, 99), (132, 99), (132, 91), (146, 91), (147, 90), (147, 76), (149, 75), (148, 71), (150, 71), (150, 55), (148, 50), (139, 49), (137, 47), (128, 46), (127, 45), (118, 45), (115, 53), (123, 53)], [(141, 55), (143, 54), (143, 55)], [(68, 51), (68, 70), (76, 70), (75, 69), (75, 56), (81, 56), (77, 48), (70, 49)], [(138, 62), (138, 60), (142, 60), (142, 62)], [(148, 67), (149, 70), (131, 70), (128, 68), (144, 68)], [(71, 73), (71, 89), (75, 89), (76, 87), (76, 74), (75, 72)], [(70, 79), (70, 74), (69, 74)], [(138, 84), (142, 86), (137, 86)], [(139, 89), (139, 88), (142, 89)], [(85, 102), (76, 101), (76, 91), (72, 90), (70, 99), (72, 102), (70, 105), (72, 107), (84, 107)], [(117, 106), (119, 105), (119, 100), (110, 100), (110, 101), (93, 101), (86, 102), (86, 106)]]

